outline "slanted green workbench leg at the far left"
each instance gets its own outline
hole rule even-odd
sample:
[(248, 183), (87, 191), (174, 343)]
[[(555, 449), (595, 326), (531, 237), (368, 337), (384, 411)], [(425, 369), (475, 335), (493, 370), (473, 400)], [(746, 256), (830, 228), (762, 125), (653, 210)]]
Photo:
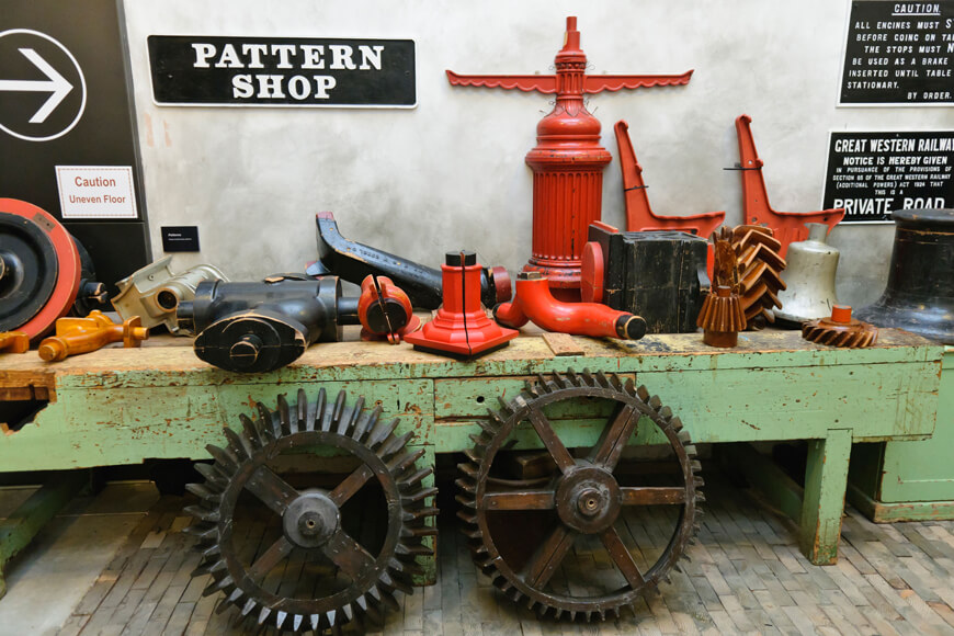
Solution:
[(61, 473), (0, 522), (0, 599), (7, 594), (7, 565), (88, 484), (83, 470)]

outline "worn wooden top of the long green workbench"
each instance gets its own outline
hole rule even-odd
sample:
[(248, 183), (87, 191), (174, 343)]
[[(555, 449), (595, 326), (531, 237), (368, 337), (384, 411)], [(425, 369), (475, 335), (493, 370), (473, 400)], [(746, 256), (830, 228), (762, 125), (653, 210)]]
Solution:
[[(309, 348), (289, 366), (271, 373), (241, 374), (218, 370), (194, 354), (191, 339), (160, 336), (140, 349), (114, 344), (92, 353), (46, 363), (35, 351), (0, 354), (0, 398), (10, 390), (33, 390), (63, 386), (92, 388), (120, 382), (126, 386), (188, 384), (260, 384), (315, 379), (316, 374), (347, 379), (355, 374), (381, 378), (465, 377), (525, 375), (536, 373), (541, 363), (553, 370), (581, 370), (594, 365), (602, 371), (632, 373), (682, 370), (783, 367), (890, 362), (938, 361), (943, 347), (913, 333), (883, 329), (870, 349), (837, 349), (808, 342), (799, 331), (764, 330), (739, 334), (739, 345), (716, 349), (703, 344), (702, 333), (646, 336), (638, 341), (572, 337), (581, 355), (554, 353), (537, 333), (521, 334), (509, 347), (472, 361), (455, 361), (416, 351), (410, 344), (387, 342), (327, 342)], [(122, 378), (122, 379), (121, 379)], [(42, 397), (42, 396), (38, 396)]]

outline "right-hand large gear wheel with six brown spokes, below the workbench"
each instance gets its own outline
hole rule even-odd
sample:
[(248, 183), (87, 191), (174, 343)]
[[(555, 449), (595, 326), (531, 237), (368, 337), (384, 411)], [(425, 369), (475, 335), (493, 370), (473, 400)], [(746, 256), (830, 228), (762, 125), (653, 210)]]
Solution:
[[(602, 398), (614, 405), (597, 444), (573, 456), (544, 409), (578, 398)], [(536, 383), (527, 382), (526, 389), (510, 402), (501, 398), (500, 404), (501, 410), (490, 410), (489, 421), (481, 423), (481, 433), (473, 435), (476, 446), (467, 452), (470, 461), (459, 465), (463, 475), (457, 485), (462, 492), (457, 499), (464, 508), (458, 514), (465, 521), (465, 534), (472, 540), (474, 560), (507, 597), (526, 602), (541, 615), (552, 612), (557, 618), (566, 615), (587, 621), (617, 616), (621, 607), (632, 606), (641, 594), (666, 580), (686, 545), (694, 542), (695, 521), (701, 515), (699, 503), (704, 498), (700, 491), (703, 480), (696, 475), (700, 464), (693, 459), (695, 447), (690, 444), (689, 434), (682, 430), (679, 418), (657, 396), (650, 397), (646, 387), (636, 388), (632, 381), (624, 384), (620, 377), (602, 373), (584, 371), (577, 375), (570, 370), (566, 375), (538, 376)], [(566, 406), (570, 405), (556, 408)], [(677, 458), (679, 486), (627, 487), (614, 474), (624, 446), (635, 436), (638, 423), (647, 418)], [(521, 429), (531, 430), (519, 435), (525, 440), (535, 431), (556, 465), (554, 475), (537, 479), (536, 485), (501, 479), (491, 472), (498, 453), (512, 445), (521, 422), (526, 422)], [(640, 570), (624, 541), (624, 535), (628, 535), (618, 531), (621, 524), (625, 525), (621, 511), (631, 506), (660, 504), (678, 507), (678, 515), (673, 515), (678, 516), (675, 531), (656, 563)], [(499, 516), (512, 515), (511, 511), (534, 511), (533, 514), (544, 514), (547, 522), (535, 524), (507, 518), (501, 523)], [(525, 538), (534, 527), (541, 531), (538, 538), (524, 541), (521, 549), (508, 546)], [(622, 587), (593, 594), (592, 589), (582, 584), (575, 590), (573, 581), (560, 589), (548, 586), (575, 543), (589, 543), (598, 548), (602, 543), (610, 561), (622, 575), (617, 575), (617, 580), (625, 581)]]

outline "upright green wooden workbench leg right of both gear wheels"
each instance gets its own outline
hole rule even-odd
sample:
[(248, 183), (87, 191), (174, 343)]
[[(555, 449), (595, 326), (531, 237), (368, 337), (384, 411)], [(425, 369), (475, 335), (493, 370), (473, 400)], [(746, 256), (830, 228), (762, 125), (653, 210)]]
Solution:
[(824, 440), (808, 440), (799, 541), (802, 553), (817, 566), (838, 560), (850, 455), (850, 429), (832, 429)]

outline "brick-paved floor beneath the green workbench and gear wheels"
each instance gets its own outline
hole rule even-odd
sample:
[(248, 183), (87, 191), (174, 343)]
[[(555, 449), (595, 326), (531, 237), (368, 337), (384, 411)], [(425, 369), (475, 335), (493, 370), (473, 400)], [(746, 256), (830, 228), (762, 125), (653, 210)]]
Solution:
[[(515, 636), (568, 634), (954, 634), (954, 522), (876, 525), (849, 509), (837, 566), (814, 567), (794, 526), (717, 476), (683, 572), (633, 613), (601, 624), (537, 621), (490, 586), (470, 561), (453, 514), (439, 520), (439, 582), (399, 598), (373, 634)], [(441, 485), (453, 489), (453, 485)], [(75, 609), (61, 634), (239, 634), (235, 614), (202, 598), (190, 578), (197, 555), (181, 530), (182, 498), (164, 497)], [(652, 516), (652, 515), (651, 515)], [(627, 523), (637, 560), (661, 549), (663, 513)], [(578, 545), (564, 564), (614, 572), (604, 554)], [(2, 631), (2, 629), (0, 629)]]

